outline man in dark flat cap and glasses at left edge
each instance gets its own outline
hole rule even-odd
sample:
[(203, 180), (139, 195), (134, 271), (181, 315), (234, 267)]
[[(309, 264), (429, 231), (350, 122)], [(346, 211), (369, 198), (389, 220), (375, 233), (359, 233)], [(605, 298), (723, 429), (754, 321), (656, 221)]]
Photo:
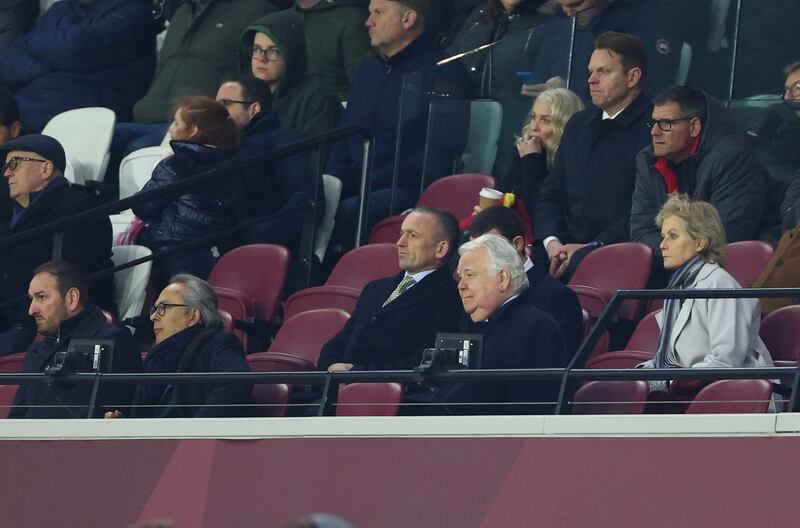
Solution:
[[(0, 147), (0, 154), (5, 162), (4, 183), (14, 201), (9, 235), (69, 218), (95, 205), (92, 196), (71, 187), (64, 178), (66, 156), (55, 139), (22, 136)], [(68, 225), (58, 233), (0, 247), (0, 355), (28, 348), (36, 329), (27, 314), (27, 285), (36, 266), (62, 259), (76, 263), (87, 275), (112, 267), (108, 218)], [(113, 277), (93, 278), (89, 286), (96, 304), (116, 313)]]

